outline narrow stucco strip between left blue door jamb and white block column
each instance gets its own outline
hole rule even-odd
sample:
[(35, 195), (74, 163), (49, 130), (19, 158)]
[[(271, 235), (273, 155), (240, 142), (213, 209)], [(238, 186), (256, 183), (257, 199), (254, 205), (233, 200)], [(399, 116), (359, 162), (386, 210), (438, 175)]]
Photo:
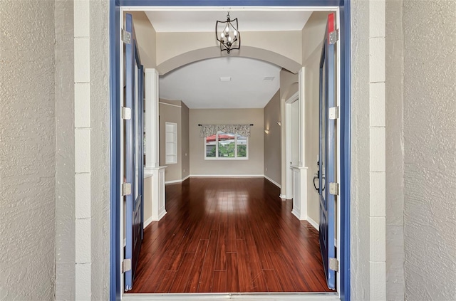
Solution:
[(92, 300), (109, 298), (109, 0), (90, 1), (90, 194)]

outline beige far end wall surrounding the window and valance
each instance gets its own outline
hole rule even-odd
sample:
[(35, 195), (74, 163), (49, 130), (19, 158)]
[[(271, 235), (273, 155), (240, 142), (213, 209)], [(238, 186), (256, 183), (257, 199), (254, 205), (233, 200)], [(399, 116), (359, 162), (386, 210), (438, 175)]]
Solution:
[[(248, 160), (205, 160), (204, 138), (198, 124), (250, 124)], [(190, 109), (190, 174), (198, 175), (263, 175), (263, 109)]]

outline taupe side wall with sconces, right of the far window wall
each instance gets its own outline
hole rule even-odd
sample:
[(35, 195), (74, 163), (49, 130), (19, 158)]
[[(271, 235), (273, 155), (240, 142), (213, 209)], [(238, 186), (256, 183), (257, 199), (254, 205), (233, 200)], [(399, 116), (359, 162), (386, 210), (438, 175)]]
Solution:
[(277, 184), (281, 184), (281, 121), (280, 90), (264, 107), (264, 175)]

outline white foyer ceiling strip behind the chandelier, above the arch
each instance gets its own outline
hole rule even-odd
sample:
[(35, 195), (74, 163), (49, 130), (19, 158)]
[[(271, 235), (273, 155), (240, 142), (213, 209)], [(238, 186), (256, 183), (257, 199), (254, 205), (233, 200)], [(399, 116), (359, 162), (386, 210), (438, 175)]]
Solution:
[[(145, 11), (157, 32), (210, 32), (227, 11)], [(311, 11), (230, 11), (242, 31), (301, 31)]]

